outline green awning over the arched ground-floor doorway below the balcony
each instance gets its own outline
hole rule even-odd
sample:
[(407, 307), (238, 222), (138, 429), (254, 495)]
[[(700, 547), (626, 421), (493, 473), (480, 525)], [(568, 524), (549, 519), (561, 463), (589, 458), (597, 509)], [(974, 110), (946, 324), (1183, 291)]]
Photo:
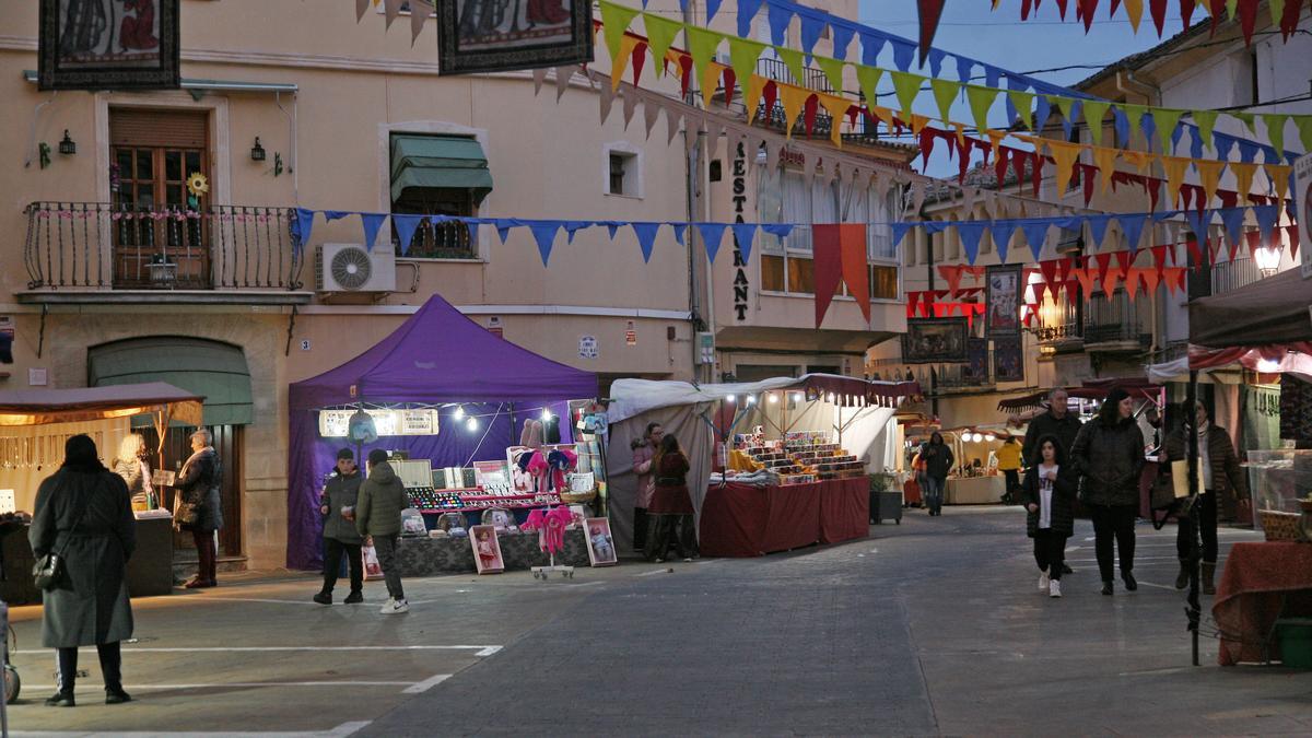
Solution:
[(240, 347), (186, 336), (127, 339), (87, 352), (87, 383), (168, 382), (205, 397), (206, 425), (255, 420), (251, 369)]

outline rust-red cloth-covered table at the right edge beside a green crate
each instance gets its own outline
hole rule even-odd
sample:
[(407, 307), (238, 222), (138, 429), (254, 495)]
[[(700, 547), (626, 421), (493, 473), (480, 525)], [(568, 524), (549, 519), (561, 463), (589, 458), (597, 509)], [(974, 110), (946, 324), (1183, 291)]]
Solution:
[(1212, 617), (1221, 632), (1221, 666), (1279, 658), (1279, 649), (1270, 642), (1275, 620), (1312, 617), (1312, 544), (1235, 544)]

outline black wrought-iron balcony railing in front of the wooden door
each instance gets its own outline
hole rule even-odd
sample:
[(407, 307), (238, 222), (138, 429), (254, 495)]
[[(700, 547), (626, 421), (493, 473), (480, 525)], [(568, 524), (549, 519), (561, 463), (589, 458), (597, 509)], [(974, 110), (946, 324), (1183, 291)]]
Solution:
[(33, 202), (26, 214), (24, 264), (33, 290), (302, 286), (290, 207)]

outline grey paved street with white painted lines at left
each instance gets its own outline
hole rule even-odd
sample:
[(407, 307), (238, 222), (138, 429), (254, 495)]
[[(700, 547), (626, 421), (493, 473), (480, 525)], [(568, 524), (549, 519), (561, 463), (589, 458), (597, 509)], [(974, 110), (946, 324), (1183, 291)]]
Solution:
[[(76, 709), (38, 704), (49, 651), (16, 612), (20, 731), (434, 734), (1308, 734), (1312, 675), (1189, 666), (1173, 529), (1139, 528), (1141, 587), (1098, 594), (1092, 529), (1050, 600), (1017, 510), (909, 512), (862, 542), (407, 584), (413, 611), (307, 604), (308, 580), (140, 601), (129, 691), (93, 653)], [(1223, 548), (1252, 540), (1223, 531)], [(370, 584), (377, 599), (382, 586)]]

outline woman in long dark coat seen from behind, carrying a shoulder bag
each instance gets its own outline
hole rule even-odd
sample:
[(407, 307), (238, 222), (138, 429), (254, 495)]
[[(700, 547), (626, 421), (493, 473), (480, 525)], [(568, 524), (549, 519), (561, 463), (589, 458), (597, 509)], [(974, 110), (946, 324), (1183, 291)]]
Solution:
[(41, 645), (59, 655), (58, 692), (46, 704), (73, 706), (77, 646), (100, 653), (105, 703), (131, 700), (123, 692), (118, 643), (133, 637), (125, 576), (136, 519), (127, 485), (101, 466), (88, 436), (68, 439), (63, 466), (41, 483), (28, 537), (37, 558), (52, 552), (64, 559), (63, 580), (43, 597)]

